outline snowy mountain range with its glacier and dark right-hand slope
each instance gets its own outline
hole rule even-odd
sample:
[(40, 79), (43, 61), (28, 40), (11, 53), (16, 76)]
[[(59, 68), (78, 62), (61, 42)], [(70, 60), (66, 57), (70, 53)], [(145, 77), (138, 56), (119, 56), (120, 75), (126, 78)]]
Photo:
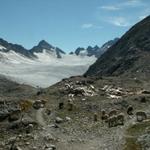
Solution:
[[(146, 76), (150, 75), (149, 64), (150, 16), (135, 24), (120, 39), (108, 41), (102, 47), (79, 47), (70, 54), (44, 40), (27, 50), (0, 39), (0, 74), (15, 81), (20, 78), (25, 83), (32, 82), (31, 85), (42, 83), (46, 87), (85, 72), (86, 76)], [(35, 75), (39, 77), (34, 80)]]

